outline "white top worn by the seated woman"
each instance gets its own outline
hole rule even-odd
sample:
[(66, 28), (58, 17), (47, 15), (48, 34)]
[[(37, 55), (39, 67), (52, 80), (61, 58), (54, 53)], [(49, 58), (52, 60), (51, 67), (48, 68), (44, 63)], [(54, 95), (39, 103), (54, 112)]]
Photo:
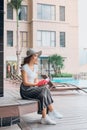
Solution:
[(27, 73), (27, 76), (28, 76), (28, 81), (31, 82), (31, 83), (34, 83), (34, 80), (37, 76), (37, 72), (38, 72), (38, 67), (37, 65), (34, 65), (34, 71), (32, 71), (30, 68), (29, 68), (29, 65), (28, 64), (25, 64), (22, 66), (22, 70), (24, 70), (26, 73)]

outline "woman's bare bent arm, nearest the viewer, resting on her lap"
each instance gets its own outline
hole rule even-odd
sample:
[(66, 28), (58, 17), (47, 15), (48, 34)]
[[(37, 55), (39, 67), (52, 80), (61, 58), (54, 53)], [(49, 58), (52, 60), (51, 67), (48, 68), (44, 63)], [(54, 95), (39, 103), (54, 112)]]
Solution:
[(25, 86), (37, 86), (37, 82), (34, 83), (28, 82), (27, 73), (24, 70), (22, 70), (21, 73), (22, 73), (22, 81)]

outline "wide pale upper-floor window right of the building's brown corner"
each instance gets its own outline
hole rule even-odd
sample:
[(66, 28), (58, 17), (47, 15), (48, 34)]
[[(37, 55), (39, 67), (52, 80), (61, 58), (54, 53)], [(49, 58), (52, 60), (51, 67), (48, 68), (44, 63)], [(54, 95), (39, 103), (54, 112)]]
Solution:
[(45, 20), (55, 20), (55, 6), (37, 4), (37, 18)]

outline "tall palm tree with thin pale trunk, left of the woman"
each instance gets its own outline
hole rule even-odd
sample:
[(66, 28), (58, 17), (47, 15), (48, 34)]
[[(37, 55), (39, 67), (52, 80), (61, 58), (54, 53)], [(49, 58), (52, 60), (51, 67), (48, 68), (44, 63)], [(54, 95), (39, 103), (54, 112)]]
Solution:
[(17, 55), (17, 74), (19, 74), (19, 59), (20, 59), (20, 51), (19, 51), (19, 36), (18, 36), (18, 32), (19, 32), (19, 9), (21, 7), (21, 3), (23, 0), (8, 0), (9, 5), (15, 9), (16, 11), (16, 21), (17, 21), (17, 50), (16, 50), (16, 55)]

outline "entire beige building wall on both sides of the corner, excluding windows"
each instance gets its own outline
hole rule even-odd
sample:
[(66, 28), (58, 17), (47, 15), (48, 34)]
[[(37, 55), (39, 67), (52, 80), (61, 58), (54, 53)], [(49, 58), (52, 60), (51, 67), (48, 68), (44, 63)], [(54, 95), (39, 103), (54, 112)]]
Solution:
[[(42, 50), (43, 55), (51, 55), (54, 53), (66, 57), (65, 69), (63, 71), (70, 73), (78, 72), (78, 0), (24, 0), (22, 4), (28, 5), (28, 21), (19, 22), (19, 31), (28, 31), (29, 47)], [(52, 4), (56, 6), (56, 20), (38, 20), (37, 19), (37, 3)], [(59, 21), (59, 6), (65, 6), (66, 20)], [(7, 20), (7, 0), (4, 0), (4, 68), (6, 68), (6, 60), (16, 60), (16, 13), (14, 11), (14, 19)], [(14, 31), (14, 46), (7, 47), (7, 30)], [(56, 31), (56, 47), (38, 47), (37, 46), (37, 30)], [(59, 46), (59, 32), (66, 32), (66, 47)], [(20, 42), (20, 37), (19, 37)], [(22, 48), (20, 56), (24, 57), (27, 48)], [(48, 51), (49, 50), (49, 51)], [(6, 70), (5, 70), (6, 74)]]

